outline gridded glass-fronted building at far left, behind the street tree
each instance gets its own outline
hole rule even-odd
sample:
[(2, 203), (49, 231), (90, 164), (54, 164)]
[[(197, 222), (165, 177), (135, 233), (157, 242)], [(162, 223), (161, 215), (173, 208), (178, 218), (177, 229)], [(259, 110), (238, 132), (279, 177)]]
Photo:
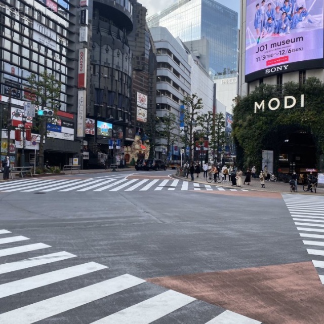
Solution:
[[(35, 152), (39, 136), (33, 130), (32, 141), (17, 140), (13, 130), (23, 126), (24, 103), (30, 94), (27, 78), (31, 73), (38, 77), (39, 73), (47, 71), (62, 83), (55, 104), (58, 125), (51, 124), (49, 120), (47, 123), (45, 159), (52, 165), (64, 166), (79, 153), (80, 145), (74, 141), (75, 102), (68, 95), (73, 92), (73, 73), (76, 68), (74, 43), (69, 38), (75, 16), (74, 1), (0, 0), (0, 142), (3, 155), (7, 154), (9, 142), (12, 165), (20, 166), (23, 148), (25, 165), (33, 165), (37, 160)], [(8, 113), (9, 94), (11, 111)], [(47, 106), (52, 108), (52, 104), (47, 103)], [(25, 126), (35, 126), (35, 119), (28, 116)], [(10, 128), (8, 124), (12, 128), (9, 140), (8, 132), (5, 131)]]

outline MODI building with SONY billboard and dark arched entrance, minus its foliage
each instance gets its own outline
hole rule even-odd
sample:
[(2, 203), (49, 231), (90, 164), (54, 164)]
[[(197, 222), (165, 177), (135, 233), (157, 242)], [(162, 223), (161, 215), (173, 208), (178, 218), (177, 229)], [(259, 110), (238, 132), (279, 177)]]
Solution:
[[(267, 0), (265, 8), (271, 9), (271, 4), (273, 2)], [(263, 144), (262, 167), (268, 164), (270, 171), (272, 166), (278, 166), (277, 170), (273, 170), (275, 173), (296, 171), (302, 175), (310, 170), (315, 173), (324, 171), (322, 135), (319, 129), (311, 129), (305, 122), (308, 109), (314, 113), (311, 111), (317, 104), (309, 104), (307, 98), (311, 89), (303, 87), (309, 77), (324, 81), (324, 4), (311, 0), (296, 4), (298, 7), (294, 5), (295, 8), (292, 7), (288, 13), (293, 16), (292, 19), (287, 19), (285, 24), (279, 21), (281, 27), (269, 33), (262, 28), (260, 3), (241, 0), (238, 94), (245, 97), (257, 87), (273, 86), (275, 90), (260, 94), (249, 111), (257, 118), (267, 113), (272, 121), (282, 114), (281, 119), (284, 120), (280, 126), (270, 122), (263, 131), (266, 138), (278, 140), (274, 145)], [(281, 16), (280, 8), (277, 11)], [(291, 82), (298, 89), (303, 89), (298, 96), (291, 84), (282, 91), (282, 87)], [(298, 120), (291, 123), (288, 116), (293, 113)]]

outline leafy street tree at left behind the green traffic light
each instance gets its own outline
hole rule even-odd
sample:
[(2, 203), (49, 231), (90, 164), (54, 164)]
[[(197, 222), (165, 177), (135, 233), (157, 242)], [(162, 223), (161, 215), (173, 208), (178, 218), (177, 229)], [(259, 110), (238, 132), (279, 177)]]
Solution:
[(60, 97), (61, 82), (56, 80), (55, 75), (46, 70), (39, 73), (31, 73), (27, 78), (29, 83), (29, 93), (25, 95), (25, 99), (31, 101), (38, 111), (36, 116), (36, 124), (34, 129), (39, 132), (39, 169), (44, 170), (44, 140), (46, 132), (46, 120), (48, 116), (42, 114), (44, 108), (53, 110), (51, 118), (56, 118), (57, 103)]

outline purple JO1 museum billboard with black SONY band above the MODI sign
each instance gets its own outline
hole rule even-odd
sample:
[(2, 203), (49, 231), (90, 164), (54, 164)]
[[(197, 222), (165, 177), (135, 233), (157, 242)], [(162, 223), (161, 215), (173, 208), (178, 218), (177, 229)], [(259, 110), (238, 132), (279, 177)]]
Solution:
[(247, 0), (246, 82), (323, 67), (323, 1), (293, 3)]

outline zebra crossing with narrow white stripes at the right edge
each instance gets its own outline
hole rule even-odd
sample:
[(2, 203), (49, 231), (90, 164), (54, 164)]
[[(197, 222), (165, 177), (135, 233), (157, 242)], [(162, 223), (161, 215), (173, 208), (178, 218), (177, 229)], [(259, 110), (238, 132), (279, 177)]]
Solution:
[(324, 285), (324, 197), (284, 194), (282, 197)]

